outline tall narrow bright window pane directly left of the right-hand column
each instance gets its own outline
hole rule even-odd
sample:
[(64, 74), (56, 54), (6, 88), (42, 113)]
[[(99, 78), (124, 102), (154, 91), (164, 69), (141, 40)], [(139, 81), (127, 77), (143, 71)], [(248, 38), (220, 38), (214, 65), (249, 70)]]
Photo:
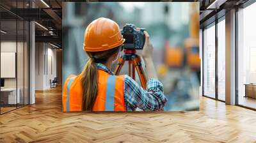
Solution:
[(225, 101), (225, 19), (218, 23), (218, 99)]

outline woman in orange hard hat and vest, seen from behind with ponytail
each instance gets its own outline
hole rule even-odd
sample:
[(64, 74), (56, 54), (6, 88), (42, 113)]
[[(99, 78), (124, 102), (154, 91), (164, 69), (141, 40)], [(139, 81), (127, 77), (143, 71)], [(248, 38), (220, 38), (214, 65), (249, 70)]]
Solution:
[(153, 47), (146, 31), (142, 57), (147, 72), (147, 90), (128, 75), (113, 75), (111, 66), (122, 50), (124, 38), (116, 22), (93, 20), (84, 33), (83, 49), (88, 61), (80, 75), (70, 75), (63, 86), (63, 111), (162, 110), (167, 102), (163, 84), (157, 80)]

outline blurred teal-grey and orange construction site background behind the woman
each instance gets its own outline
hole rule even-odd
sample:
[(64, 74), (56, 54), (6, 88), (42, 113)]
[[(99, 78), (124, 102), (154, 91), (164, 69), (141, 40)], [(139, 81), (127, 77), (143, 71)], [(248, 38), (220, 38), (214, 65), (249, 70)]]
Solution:
[[(199, 109), (198, 2), (63, 3), (63, 80), (71, 73), (81, 73), (87, 59), (84, 30), (99, 17), (115, 20), (120, 28), (132, 23), (147, 29), (154, 46), (154, 64), (168, 98), (164, 110)], [(124, 66), (121, 73), (127, 71)]]

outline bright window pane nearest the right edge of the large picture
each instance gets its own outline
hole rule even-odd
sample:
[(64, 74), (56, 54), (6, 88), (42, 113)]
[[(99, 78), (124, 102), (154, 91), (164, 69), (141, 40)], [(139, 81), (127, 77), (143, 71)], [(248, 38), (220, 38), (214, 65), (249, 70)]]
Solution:
[(204, 29), (204, 95), (215, 98), (215, 26)]

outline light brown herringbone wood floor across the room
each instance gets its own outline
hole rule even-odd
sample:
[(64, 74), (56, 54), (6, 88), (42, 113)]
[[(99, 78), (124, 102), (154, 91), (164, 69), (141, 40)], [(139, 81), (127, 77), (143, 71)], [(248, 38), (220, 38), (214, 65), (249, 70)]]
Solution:
[(256, 142), (256, 112), (200, 98), (199, 112), (63, 113), (61, 89), (0, 116), (0, 142)]

